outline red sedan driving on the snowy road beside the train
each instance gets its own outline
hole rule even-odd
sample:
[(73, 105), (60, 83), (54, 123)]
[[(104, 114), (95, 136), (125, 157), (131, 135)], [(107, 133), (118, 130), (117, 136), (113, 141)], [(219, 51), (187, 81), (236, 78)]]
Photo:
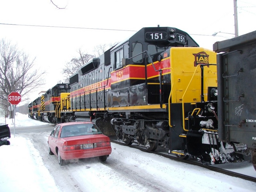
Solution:
[(106, 161), (112, 148), (108, 136), (103, 135), (92, 122), (57, 124), (48, 137), (50, 155), (58, 156), (59, 164), (65, 160), (99, 157)]

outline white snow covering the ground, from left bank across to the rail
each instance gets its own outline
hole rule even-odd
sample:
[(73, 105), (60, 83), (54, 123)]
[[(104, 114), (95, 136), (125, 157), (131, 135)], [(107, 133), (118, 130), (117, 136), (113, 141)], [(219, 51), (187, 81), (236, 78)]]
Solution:
[[(9, 119), (6, 120), (7, 124), (13, 127), (13, 123)], [(5, 123), (4, 118), (0, 118), (0, 123)], [(29, 119), (27, 115), (18, 113), (15, 117), (16, 127), (43, 124), (47, 123)], [(45, 133), (43, 138), (45, 145), (47, 143), (47, 134)], [(42, 158), (42, 155), (35, 148), (33, 140), (22, 137), (19, 134), (16, 134), (15, 137), (12, 135), (9, 140), (11, 145), (0, 147), (0, 191), (63, 191), (50, 173), (49, 167), (52, 167), (53, 163), (44, 163), (46, 160)], [(56, 161), (54, 164), (58, 164), (58, 169), (68, 166), (68, 169), (64, 169), (64, 171), (70, 170), (75, 175), (74, 179), (84, 182), (86, 191), (159, 191), (157, 188), (151, 190), (145, 188), (141, 183), (136, 183), (132, 179), (133, 172), (134, 177), (136, 175), (135, 172), (141, 172), (141, 176), (137, 176), (136, 179), (140, 180), (139, 178), (141, 177), (143, 182), (147, 182), (145, 185), (151, 185), (151, 180), (159, 183), (162, 185), (162, 191), (163, 188), (165, 188), (164, 191), (255, 191), (256, 183), (252, 181), (172, 161), (162, 156), (145, 153), (115, 143), (111, 143), (111, 146), (112, 153), (104, 164), (99, 161), (83, 161), (79, 162), (80, 164), (71, 163), (60, 167), (57, 163), (57, 157), (48, 156), (53, 157), (54, 161)], [(119, 168), (111, 169), (112, 163), (117, 164)], [(113, 167), (114, 164), (112, 164)], [(126, 167), (123, 167), (123, 165)], [(120, 174), (121, 172), (126, 172), (127, 169), (130, 172), (127, 172), (127, 174), (131, 174), (128, 178)], [(68, 186), (66, 187), (66, 191), (70, 191), (70, 189)]]

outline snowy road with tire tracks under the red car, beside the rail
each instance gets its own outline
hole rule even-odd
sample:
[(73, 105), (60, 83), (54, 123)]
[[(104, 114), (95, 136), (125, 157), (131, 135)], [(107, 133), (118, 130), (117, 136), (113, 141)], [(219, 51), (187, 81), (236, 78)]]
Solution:
[[(83, 159), (64, 166), (50, 156), (50, 132), (20, 133), (30, 138), (60, 191), (255, 191), (256, 183), (176, 162), (138, 149), (111, 143), (106, 162)], [(246, 186), (246, 187), (244, 187)]]

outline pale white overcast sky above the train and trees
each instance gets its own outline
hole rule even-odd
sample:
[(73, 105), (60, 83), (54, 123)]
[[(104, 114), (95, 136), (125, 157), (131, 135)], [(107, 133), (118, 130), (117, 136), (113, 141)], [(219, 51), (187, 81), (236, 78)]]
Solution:
[[(120, 42), (143, 27), (179, 28), (211, 50), (216, 41), (234, 36), (226, 33), (235, 33), (233, 0), (53, 2), (66, 8), (57, 9), (50, 0), (0, 0), (0, 39), (18, 44), (31, 60), (36, 57), (36, 66), (47, 71), (48, 79), (31, 94), (31, 101), (63, 79), (61, 69), (79, 56), (78, 49), (93, 54), (95, 46)], [(237, 7), (238, 34), (256, 30), (255, 0), (237, 0)], [(224, 33), (212, 36), (219, 31)]]

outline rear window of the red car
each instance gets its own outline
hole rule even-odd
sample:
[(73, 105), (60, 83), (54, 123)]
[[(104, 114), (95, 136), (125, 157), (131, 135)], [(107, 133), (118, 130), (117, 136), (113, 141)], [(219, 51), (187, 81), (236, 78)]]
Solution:
[(73, 124), (63, 126), (60, 137), (63, 138), (93, 134), (102, 134), (95, 124)]

